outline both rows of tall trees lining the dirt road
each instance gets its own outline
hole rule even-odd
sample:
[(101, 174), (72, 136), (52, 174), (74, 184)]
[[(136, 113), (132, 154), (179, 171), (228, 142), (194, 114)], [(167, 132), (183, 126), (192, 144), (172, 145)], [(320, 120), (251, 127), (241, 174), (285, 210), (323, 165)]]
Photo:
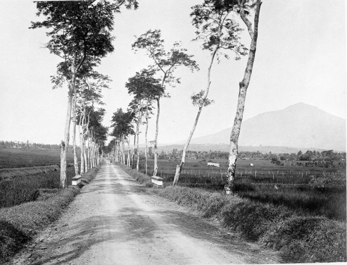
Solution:
[[(51, 53), (56, 54), (62, 61), (58, 63), (57, 74), (52, 77), (54, 88), (67, 84), (67, 112), (64, 130), (64, 139), (61, 141), (60, 154), (60, 187), (66, 185), (66, 151), (69, 142), (69, 128), (71, 118), (73, 122), (73, 148), (75, 158), (76, 174), (78, 174), (78, 164), (75, 143), (75, 128), (78, 124), (81, 141), (81, 174), (85, 173), (91, 166), (99, 163), (100, 146), (106, 139), (107, 128), (101, 125), (105, 110), (96, 109), (102, 104), (100, 89), (107, 88), (110, 82), (107, 76), (99, 74), (94, 69), (100, 64), (101, 58), (114, 50), (112, 41), (114, 37), (111, 32), (114, 26), (114, 14), (119, 12), (120, 7), (137, 8), (136, 0), (114, 0), (112, 2), (100, 1), (58, 1), (58, 2), (37, 2), (38, 15), (45, 16), (43, 21), (32, 22), (31, 28), (45, 27), (49, 31), (50, 38), (45, 45)], [(244, 77), (239, 83), (239, 96), (237, 110), (231, 131), (231, 144), (229, 153), (228, 182), (225, 191), (229, 194), (233, 189), (235, 177), (235, 167), (237, 159), (237, 142), (242, 122), (243, 109), (246, 91), (250, 82), (258, 36), (258, 22), (261, 0), (204, 0), (202, 4), (192, 7), (192, 23), (197, 28), (196, 40), (202, 40), (203, 49), (211, 51), (211, 60), (207, 72), (206, 88), (199, 93), (192, 95), (193, 105), (198, 107), (198, 112), (193, 124), (193, 128), (188, 136), (183, 149), (180, 165), (177, 165), (174, 185), (178, 183), (179, 174), (184, 165), (185, 153), (190, 139), (194, 133), (200, 113), (204, 106), (213, 102), (207, 98), (211, 85), (211, 68), (215, 58), (220, 59), (221, 55), (229, 57), (228, 52), (235, 53), (235, 59), (248, 53), (248, 60)], [(251, 13), (254, 13), (254, 25), (249, 20)], [(245, 25), (250, 38), (250, 48), (240, 43), (239, 33), (242, 28), (237, 23), (235, 17), (240, 18)], [(147, 158), (147, 128), (149, 115), (154, 108), (156, 101), (157, 117), (156, 132), (154, 138), (154, 176), (158, 172), (158, 133), (160, 99), (169, 97), (167, 87), (174, 87), (179, 83), (179, 77), (174, 75), (178, 67), (185, 66), (192, 72), (199, 70), (193, 55), (187, 54), (187, 50), (181, 47), (179, 42), (166, 51), (164, 40), (161, 38), (160, 30), (148, 30), (132, 44), (132, 48), (145, 50), (153, 64), (148, 69), (143, 69), (129, 78), (126, 83), (128, 92), (133, 95), (128, 110), (123, 112), (118, 109), (113, 116), (114, 156), (116, 160), (125, 163), (125, 141), (128, 145), (127, 164), (130, 164), (130, 139), (129, 135), (134, 134), (134, 147), (132, 161), (135, 153), (138, 153), (139, 127), (143, 123), (143, 116), (146, 124), (146, 151)], [(248, 52), (247, 52), (248, 51)], [(159, 78), (156, 78), (156, 77)], [(78, 123), (77, 123), (78, 121)], [(136, 126), (136, 132), (132, 129), (132, 124)], [(136, 142), (137, 139), (137, 142)], [(86, 154), (86, 150), (88, 155)], [(139, 156), (137, 156), (138, 169)], [(146, 159), (147, 165), (147, 159)], [(132, 167), (134, 163), (132, 162)], [(146, 166), (147, 168), (147, 166)]]

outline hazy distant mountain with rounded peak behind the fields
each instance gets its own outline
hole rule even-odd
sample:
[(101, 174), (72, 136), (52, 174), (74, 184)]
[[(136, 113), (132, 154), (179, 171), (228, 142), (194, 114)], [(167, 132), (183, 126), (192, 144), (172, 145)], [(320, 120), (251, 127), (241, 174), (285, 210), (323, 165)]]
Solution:
[[(193, 138), (191, 144), (229, 144), (230, 133), (231, 128), (228, 128)], [(317, 107), (297, 103), (243, 121), (238, 144), (346, 151), (346, 120)]]

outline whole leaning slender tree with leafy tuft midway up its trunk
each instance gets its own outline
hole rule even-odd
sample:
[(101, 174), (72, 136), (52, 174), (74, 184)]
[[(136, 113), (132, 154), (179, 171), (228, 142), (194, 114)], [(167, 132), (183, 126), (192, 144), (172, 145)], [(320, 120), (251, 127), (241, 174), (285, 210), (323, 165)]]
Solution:
[(220, 59), (220, 55), (229, 58), (226, 52), (233, 51), (236, 54), (235, 59), (238, 60), (241, 55), (246, 54), (246, 49), (239, 42), (239, 32), (241, 29), (231, 17), (232, 6), (224, 5), (216, 8), (217, 4), (218, 1), (216, 0), (205, 0), (202, 4), (194, 5), (192, 7), (193, 11), (190, 14), (192, 23), (197, 28), (197, 38), (195, 40), (203, 41), (202, 48), (211, 52), (211, 59), (207, 69), (206, 89), (191, 96), (193, 105), (198, 107), (198, 112), (183, 147), (181, 163), (176, 166), (173, 185), (177, 185), (178, 183), (179, 175), (185, 162), (186, 150), (195, 131), (201, 110), (213, 101), (209, 100), (207, 96), (211, 85), (211, 68), (215, 57), (218, 60)]

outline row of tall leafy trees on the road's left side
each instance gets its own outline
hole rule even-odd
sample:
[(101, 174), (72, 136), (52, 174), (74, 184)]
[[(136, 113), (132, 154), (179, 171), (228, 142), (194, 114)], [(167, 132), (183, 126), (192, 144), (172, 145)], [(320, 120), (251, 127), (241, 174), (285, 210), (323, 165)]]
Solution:
[[(96, 3), (93, 1), (36, 3), (37, 15), (44, 16), (44, 19), (32, 22), (30, 28), (47, 28), (46, 35), (49, 37), (49, 41), (45, 47), (62, 59), (58, 63), (56, 76), (52, 77), (54, 88), (61, 87), (64, 83), (67, 84), (68, 88), (64, 139), (61, 140), (60, 151), (60, 188), (66, 186), (66, 152), (70, 138), (69, 128), (71, 116), (74, 128), (77, 123), (77, 102), (81, 103), (78, 118), (82, 132), (80, 134), (82, 138), (81, 153), (84, 160), (82, 174), (100, 162), (98, 148), (106, 139), (107, 133), (107, 129), (101, 125), (105, 110), (95, 110), (94, 101), (89, 96), (93, 97), (91, 94), (97, 93), (94, 89), (99, 88), (100, 84), (96, 81), (95, 86), (89, 86), (88, 80), (94, 79), (93, 69), (100, 64), (100, 59), (114, 50), (112, 44), (114, 37), (111, 34), (114, 26), (114, 14), (120, 11), (122, 5), (125, 5), (126, 8), (137, 8), (138, 3), (136, 0), (97, 1)], [(96, 74), (96, 72), (94, 73)], [(97, 76), (103, 79), (100, 74)], [(90, 89), (90, 94), (83, 98), (81, 95), (85, 88)], [(87, 102), (90, 101), (92, 104), (88, 105)], [(75, 129), (73, 135), (74, 133)], [(87, 138), (88, 159), (86, 159), (85, 153), (85, 138)], [(77, 165), (76, 154), (74, 157), (75, 165)], [(77, 174), (78, 166), (75, 171)]]

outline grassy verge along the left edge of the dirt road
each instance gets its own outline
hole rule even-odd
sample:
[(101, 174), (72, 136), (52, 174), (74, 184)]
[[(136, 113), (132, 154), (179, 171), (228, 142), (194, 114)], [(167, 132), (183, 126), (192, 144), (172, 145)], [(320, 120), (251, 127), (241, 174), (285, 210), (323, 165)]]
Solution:
[[(71, 169), (74, 173), (73, 167), (67, 169), (69, 171)], [(98, 167), (89, 170), (82, 177), (82, 181), (89, 183), (97, 171)], [(45, 177), (47, 175), (45, 174)], [(35, 176), (30, 177), (35, 178)], [(79, 187), (68, 187), (60, 191), (56, 188), (56, 184), (57, 176), (53, 176), (53, 179), (47, 181), (44, 180), (36, 200), (0, 209), (0, 264), (8, 261), (23, 244), (31, 240), (48, 224), (57, 220), (63, 209), (80, 192)]]

